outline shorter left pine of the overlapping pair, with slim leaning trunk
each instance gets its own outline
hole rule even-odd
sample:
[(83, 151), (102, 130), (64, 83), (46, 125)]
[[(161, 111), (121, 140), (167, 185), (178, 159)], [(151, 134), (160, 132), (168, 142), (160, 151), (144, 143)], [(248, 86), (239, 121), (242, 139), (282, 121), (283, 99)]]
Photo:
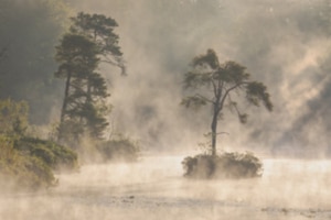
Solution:
[(86, 79), (95, 70), (98, 63), (96, 46), (85, 36), (65, 34), (56, 47), (56, 61), (60, 66), (55, 77), (64, 78), (66, 81), (58, 140), (66, 140), (64, 135), (72, 135), (77, 141), (84, 133), (84, 116), (79, 113), (87, 99), (84, 87)]

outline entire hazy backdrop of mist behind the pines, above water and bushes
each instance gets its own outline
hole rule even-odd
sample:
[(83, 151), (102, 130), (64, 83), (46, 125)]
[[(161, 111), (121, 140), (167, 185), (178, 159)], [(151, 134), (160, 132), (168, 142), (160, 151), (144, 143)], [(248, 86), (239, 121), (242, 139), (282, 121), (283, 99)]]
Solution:
[(111, 89), (109, 120), (146, 148), (191, 151), (204, 141), (210, 111), (190, 112), (179, 103), (185, 95), (181, 81), (190, 62), (213, 48), (220, 62), (232, 59), (246, 66), (253, 79), (268, 87), (275, 106), (268, 113), (239, 102), (247, 109), (248, 123), (239, 124), (235, 116), (225, 114), (220, 130), (229, 135), (220, 138), (222, 148), (330, 155), (329, 0), (65, 2), (70, 9), (62, 1), (52, 10), (52, 1), (1, 2), (0, 47), (7, 53), (0, 61), (0, 97), (26, 100), (33, 124), (58, 120), (64, 84), (53, 77), (52, 54), (68, 26), (67, 16), (85, 11), (109, 15), (119, 25), (115, 31), (128, 76), (107, 65), (99, 69)]

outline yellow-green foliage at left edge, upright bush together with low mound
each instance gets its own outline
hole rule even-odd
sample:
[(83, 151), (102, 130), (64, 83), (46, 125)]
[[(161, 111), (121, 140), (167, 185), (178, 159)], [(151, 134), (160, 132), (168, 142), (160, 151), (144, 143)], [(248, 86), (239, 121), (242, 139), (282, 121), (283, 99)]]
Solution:
[(54, 186), (53, 170), (78, 167), (77, 155), (71, 150), (51, 141), (25, 136), (28, 110), (25, 102), (0, 101), (0, 186), (4, 188)]

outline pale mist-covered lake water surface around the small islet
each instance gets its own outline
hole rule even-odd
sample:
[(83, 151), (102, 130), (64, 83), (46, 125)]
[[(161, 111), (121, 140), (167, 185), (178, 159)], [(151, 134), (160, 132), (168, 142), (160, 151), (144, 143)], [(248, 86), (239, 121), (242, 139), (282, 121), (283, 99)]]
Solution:
[(331, 219), (331, 162), (264, 160), (254, 179), (190, 180), (183, 156), (82, 166), (56, 188), (4, 194), (0, 219)]

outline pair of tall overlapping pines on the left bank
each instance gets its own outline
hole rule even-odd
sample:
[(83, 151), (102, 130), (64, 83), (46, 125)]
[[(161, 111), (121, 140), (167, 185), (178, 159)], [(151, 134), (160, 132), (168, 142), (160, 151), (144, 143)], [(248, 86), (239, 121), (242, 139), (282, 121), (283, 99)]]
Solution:
[(58, 127), (60, 142), (78, 143), (84, 134), (99, 140), (107, 128), (109, 97), (105, 78), (97, 73), (100, 62), (116, 65), (125, 73), (117, 23), (103, 14), (78, 13), (72, 18), (70, 33), (56, 46), (60, 64), (55, 77), (65, 79), (64, 100)]

